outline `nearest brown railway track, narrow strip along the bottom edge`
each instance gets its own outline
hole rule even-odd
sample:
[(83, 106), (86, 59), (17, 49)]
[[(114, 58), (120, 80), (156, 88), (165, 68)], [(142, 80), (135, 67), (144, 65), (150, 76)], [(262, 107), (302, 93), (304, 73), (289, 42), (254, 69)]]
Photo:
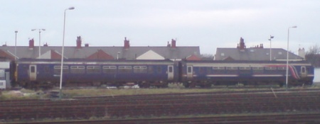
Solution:
[(30, 122), (29, 124), (170, 124), (170, 123), (228, 123), (228, 124), (302, 124), (320, 123), (320, 113), (299, 113), (299, 114), (265, 114), (265, 115), (220, 115), (210, 117), (192, 118), (140, 118), (140, 119), (113, 119), (113, 120), (66, 120), (53, 122)]

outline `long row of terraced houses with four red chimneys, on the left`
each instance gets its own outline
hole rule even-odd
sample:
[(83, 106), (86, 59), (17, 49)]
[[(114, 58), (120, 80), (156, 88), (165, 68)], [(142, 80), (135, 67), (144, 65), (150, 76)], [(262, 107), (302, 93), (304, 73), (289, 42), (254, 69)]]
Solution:
[[(9, 60), (20, 58), (36, 59), (61, 59), (61, 46), (35, 46), (34, 40), (28, 41), (28, 46), (0, 47), (0, 57)], [(40, 50), (39, 50), (40, 49)], [(40, 51), (40, 52), (39, 52)], [(40, 54), (39, 54), (40, 53)], [(63, 57), (65, 59), (89, 59), (89, 60), (200, 60), (200, 48), (198, 46), (177, 46), (172, 39), (165, 46), (131, 46), (129, 40), (124, 38), (123, 46), (82, 46), (80, 36), (76, 39), (75, 46), (65, 46)]]

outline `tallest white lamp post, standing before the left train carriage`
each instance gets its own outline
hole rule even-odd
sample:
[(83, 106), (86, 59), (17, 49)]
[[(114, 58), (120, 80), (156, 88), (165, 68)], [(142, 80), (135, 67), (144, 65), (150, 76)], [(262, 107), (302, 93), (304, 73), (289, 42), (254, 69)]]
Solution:
[[(68, 9), (65, 9), (65, 11), (73, 10), (75, 7), (69, 7)], [(63, 49), (65, 45), (65, 13), (63, 16), (63, 46), (61, 51), (61, 67), (60, 67), (60, 91), (59, 91), (59, 98), (61, 98), (62, 95), (62, 79), (63, 79)]]

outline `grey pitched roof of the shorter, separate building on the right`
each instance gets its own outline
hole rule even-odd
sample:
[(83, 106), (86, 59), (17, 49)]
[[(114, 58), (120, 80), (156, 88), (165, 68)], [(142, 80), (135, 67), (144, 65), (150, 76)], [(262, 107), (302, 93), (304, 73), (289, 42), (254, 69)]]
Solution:
[[(272, 60), (287, 60), (287, 50), (282, 48), (272, 48)], [(217, 48), (215, 60), (270, 60), (270, 48), (252, 47), (245, 49), (238, 48)], [(303, 57), (289, 52), (289, 60), (304, 60)]]

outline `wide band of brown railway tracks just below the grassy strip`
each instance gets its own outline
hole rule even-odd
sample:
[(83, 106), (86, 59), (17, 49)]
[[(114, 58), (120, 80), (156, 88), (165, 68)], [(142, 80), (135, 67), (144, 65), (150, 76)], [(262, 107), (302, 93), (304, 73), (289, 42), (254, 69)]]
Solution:
[[(275, 93), (275, 94), (274, 94)], [(104, 96), (0, 101), (0, 120), (154, 118), (180, 115), (317, 113), (320, 91)]]

